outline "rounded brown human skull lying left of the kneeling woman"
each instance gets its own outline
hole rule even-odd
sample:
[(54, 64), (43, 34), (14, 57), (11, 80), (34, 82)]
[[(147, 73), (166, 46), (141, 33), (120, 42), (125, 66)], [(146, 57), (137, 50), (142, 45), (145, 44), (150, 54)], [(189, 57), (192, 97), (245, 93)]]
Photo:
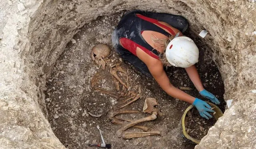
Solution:
[(95, 45), (92, 48), (92, 52), (91, 52), (92, 61), (96, 60), (98, 62), (100, 59), (104, 59), (109, 55), (110, 55), (110, 48), (106, 44), (100, 43), (98, 45)]

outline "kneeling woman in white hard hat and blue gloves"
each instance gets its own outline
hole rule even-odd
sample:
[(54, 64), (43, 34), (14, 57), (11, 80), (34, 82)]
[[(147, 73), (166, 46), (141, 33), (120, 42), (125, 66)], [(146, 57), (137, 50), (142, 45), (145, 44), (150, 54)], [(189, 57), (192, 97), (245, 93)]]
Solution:
[(174, 98), (193, 104), (200, 115), (212, 118), (210, 105), (174, 87), (164, 66), (183, 67), (199, 93), (219, 104), (218, 99), (204, 89), (195, 63), (198, 48), (192, 39), (182, 35), (188, 22), (182, 16), (134, 10), (125, 14), (112, 35), (120, 56), (147, 76), (154, 77), (162, 89)]

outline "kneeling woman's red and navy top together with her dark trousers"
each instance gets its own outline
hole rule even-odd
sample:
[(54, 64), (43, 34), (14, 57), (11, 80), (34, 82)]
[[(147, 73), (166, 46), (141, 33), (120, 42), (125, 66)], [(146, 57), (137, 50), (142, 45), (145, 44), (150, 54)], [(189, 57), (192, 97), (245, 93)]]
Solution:
[[(140, 49), (148, 53), (151, 57), (159, 59), (158, 51), (153, 50), (153, 47), (151, 47), (141, 35), (142, 32), (146, 30), (157, 31), (166, 36), (170, 35), (161, 27), (167, 29), (174, 35), (172, 29), (166, 25), (160, 24), (159, 21), (168, 23), (182, 33), (188, 28), (188, 21), (182, 16), (134, 10), (122, 17), (112, 34), (112, 43), (116, 52), (124, 59), (124, 61), (134, 65), (136, 69), (150, 77), (152, 77), (152, 75), (150, 74), (148, 67), (136, 55), (136, 48), (140, 47)], [(123, 47), (120, 45), (120, 42)]]

